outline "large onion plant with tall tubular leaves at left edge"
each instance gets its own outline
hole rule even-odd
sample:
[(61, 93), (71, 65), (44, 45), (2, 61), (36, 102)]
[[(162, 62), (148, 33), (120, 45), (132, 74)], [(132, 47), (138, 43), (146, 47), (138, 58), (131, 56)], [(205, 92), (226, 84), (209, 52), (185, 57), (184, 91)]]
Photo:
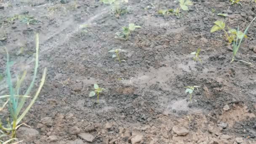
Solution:
[(17, 128), (19, 128), (21, 125), (26, 125), (24, 123), (21, 123), (21, 120), (24, 118), (24, 116), (27, 114), (27, 112), (29, 111), (29, 109), (32, 107), (32, 105), (35, 103), (35, 100), (37, 99), (43, 84), (45, 82), (45, 76), (46, 76), (46, 71), (47, 69), (45, 68), (43, 71), (43, 76), (41, 79), (41, 83), (40, 86), (37, 90), (37, 92), (35, 93), (35, 96), (33, 97), (32, 101), (29, 103), (29, 105), (27, 106), (26, 109), (24, 109), (24, 111), (21, 113), (21, 109), (24, 106), (24, 103), (30, 93), (30, 91), (32, 90), (35, 80), (36, 80), (36, 76), (37, 76), (37, 68), (38, 68), (38, 57), (39, 57), (39, 36), (38, 34), (36, 34), (36, 54), (35, 54), (35, 69), (34, 69), (34, 76), (32, 79), (32, 82), (30, 83), (29, 87), (27, 88), (27, 91), (24, 93), (23, 96), (20, 95), (20, 89), (21, 89), (21, 84), (24, 81), (24, 78), (27, 74), (27, 72), (23, 72), (23, 75), (21, 77), (17, 77), (17, 82), (16, 82), (16, 87), (13, 88), (13, 84), (12, 84), (12, 80), (11, 80), (11, 70), (10, 70), (10, 60), (9, 60), (9, 54), (8, 51), (6, 49), (7, 52), (7, 64), (6, 64), (6, 75), (7, 75), (7, 84), (9, 87), (9, 95), (5, 95), (5, 96), (1, 96), (0, 98), (4, 98), (4, 97), (8, 97), (10, 100), (8, 101), (8, 108), (9, 108), (9, 112), (12, 118), (12, 122), (8, 122), (7, 123), (7, 127), (4, 127), (3, 124), (0, 122), (0, 129), (2, 131), (5, 131), (7, 133), (9, 133), (11, 131), (11, 138), (15, 138), (16, 137), (16, 130)]

